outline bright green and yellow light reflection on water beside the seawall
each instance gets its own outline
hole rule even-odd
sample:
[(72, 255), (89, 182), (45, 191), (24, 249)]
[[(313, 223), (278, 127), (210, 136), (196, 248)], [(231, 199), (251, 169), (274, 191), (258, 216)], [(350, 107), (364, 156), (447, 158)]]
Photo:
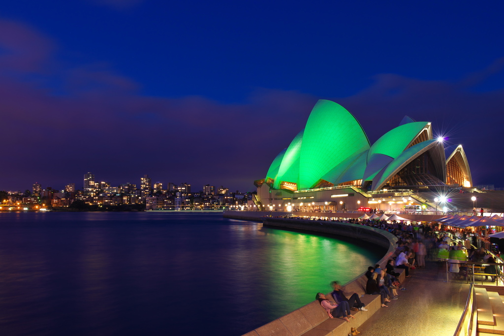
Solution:
[(331, 291), (329, 283), (344, 284), (381, 258), (365, 248), (335, 238), (261, 228), (268, 241), (262, 281), (267, 315), (278, 318), (314, 300), (317, 292)]

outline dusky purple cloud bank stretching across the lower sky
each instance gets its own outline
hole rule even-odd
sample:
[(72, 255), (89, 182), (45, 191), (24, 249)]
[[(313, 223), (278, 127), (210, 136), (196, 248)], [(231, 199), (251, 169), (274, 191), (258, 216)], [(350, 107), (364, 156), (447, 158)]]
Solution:
[[(155, 181), (193, 183), (196, 190), (206, 183), (253, 190), (317, 100), (327, 98), (267, 88), (240, 104), (148, 96), (107, 64), (58, 62), (50, 38), (12, 21), (0, 20), (0, 50), (0, 74), (9, 74), (0, 78), (0, 189), (26, 189), (35, 181), (79, 187), (92, 171), (115, 185), (149, 174)], [(495, 146), (504, 92), (472, 92), (468, 83), (500, 71), (499, 64), (459, 83), (376, 75), (355, 95), (329, 99), (355, 115), (371, 142), (405, 114), (452, 131), (453, 141), (466, 148), (474, 182), (490, 183), (498, 181), (502, 164)], [(490, 158), (492, 164), (485, 163)]]

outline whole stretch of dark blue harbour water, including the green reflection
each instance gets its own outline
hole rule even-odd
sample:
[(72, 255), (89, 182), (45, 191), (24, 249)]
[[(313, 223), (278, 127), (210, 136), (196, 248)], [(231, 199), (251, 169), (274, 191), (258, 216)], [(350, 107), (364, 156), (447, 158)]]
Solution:
[(217, 214), (0, 213), (0, 334), (240, 335), (376, 252)]

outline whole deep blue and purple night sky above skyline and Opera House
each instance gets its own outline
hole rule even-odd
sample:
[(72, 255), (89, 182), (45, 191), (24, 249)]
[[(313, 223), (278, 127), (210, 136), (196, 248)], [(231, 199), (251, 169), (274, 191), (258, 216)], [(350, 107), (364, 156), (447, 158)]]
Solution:
[(149, 174), (253, 191), (318, 99), (373, 143), (404, 115), (501, 182), (504, 2), (12, 1), (0, 190)]

